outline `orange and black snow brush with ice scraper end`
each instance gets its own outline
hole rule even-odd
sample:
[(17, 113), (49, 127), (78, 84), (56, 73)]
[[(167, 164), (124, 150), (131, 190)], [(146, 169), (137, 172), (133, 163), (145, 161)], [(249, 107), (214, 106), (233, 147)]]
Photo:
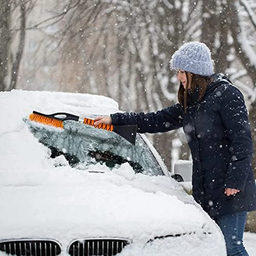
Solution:
[(46, 124), (50, 126), (60, 127), (63, 129), (63, 121), (74, 120), (77, 122), (82, 122), (84, 124), (90, 125), (95, 128), (103, 129), (110, 132), (116, 132), (118, 135), (122, 136), (124, 139), (128, 140), (130, 143), (135, 145), (137, 125), (125, 125), (125, 126), (114, 126), (112, 124), (98, 124), (94, 125), (94, 120), (89, 118), (80, 119), (79, 116), (75, 116), (68, 113), (54, 113), (50, 115), (45, 115), (36, 111), (33, 111), (29, 115), (29, 119), (34, 122), (41, 124)]

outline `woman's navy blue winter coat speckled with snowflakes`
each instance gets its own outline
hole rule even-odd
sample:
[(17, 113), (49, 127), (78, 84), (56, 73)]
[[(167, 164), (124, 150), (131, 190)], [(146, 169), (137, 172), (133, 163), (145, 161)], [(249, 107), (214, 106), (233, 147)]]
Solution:
[[(256, 210), (252, 137), (242, 93), (222, 74), (214, 74), (204, 97), (156, 113), (112, 114), (112, 124), (137, 124), (139, 132), (167, 132), (180, 127), (193, 159), (193, 196), (212, 217)], [(227, 196), (225, 188), (239, 189)]]

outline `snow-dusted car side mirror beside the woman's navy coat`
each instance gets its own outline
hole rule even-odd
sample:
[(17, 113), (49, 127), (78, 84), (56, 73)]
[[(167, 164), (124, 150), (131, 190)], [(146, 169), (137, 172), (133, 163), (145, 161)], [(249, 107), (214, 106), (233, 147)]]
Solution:
[[(192, 161), (178, 160), (174, 164), (174, 179), (179, 178), (179, 182), (192, 181)], [(180, 178), (181, 177), (181, 178)]]

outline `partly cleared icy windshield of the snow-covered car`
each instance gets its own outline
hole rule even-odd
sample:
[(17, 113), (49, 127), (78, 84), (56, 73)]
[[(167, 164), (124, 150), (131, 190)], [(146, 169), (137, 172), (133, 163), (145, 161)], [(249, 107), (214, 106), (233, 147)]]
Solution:
[(136, 173), (164, 175), (140, 134), (132, 145), (114, 132), (80, 122), (65, 121), (64, 129), (60, 129), (24, 120), (39, 142), (51, 149), (51, 157), (64, 155), (71, 166), (100, 162), (111, 169), (128, 162)]

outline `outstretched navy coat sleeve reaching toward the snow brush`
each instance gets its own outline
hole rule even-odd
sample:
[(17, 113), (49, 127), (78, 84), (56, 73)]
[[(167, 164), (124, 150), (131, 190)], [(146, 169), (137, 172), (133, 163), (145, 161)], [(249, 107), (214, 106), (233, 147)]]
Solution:
[(111, 114), (113, 125), (138, 125), (139, 133), (167, 132), (182, 127), (182, 114), (179, 103), (156, 113), (116, 113)]

